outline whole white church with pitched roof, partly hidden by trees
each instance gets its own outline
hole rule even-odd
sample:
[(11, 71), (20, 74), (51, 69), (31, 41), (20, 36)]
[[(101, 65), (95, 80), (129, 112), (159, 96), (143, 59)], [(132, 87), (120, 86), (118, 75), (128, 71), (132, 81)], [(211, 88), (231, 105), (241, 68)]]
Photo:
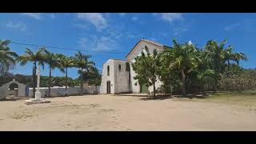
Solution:
[[(153, 91), (153, 86), (140, 86), (131, 64), (134, 58), (141, 54), (145, 46), (148, 47), (150, 54), (156, 49), (162, 52), (166, 47), (160, 43), (146, 39), (141, 39), (132, 50), (126, 55), (126, 60), (109, 59), (102, 67), (102, 83), (100, 86), (101, 94), (128, 94), (128, 93), (149, 93)], [(162, 85), (162, 82), (156, 82), (156, 88)]]

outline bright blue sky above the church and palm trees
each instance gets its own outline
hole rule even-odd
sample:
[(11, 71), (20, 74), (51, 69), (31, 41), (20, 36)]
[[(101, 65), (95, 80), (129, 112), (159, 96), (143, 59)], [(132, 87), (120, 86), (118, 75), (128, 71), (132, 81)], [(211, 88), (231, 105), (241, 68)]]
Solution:
[[(218, 42), (227, 39), (228, 45), (237, 52), (245, 53), (249, 61), (241, 62), (243, 67), (255, 68), (256, 62), (256, 14), (198, 14), (198, 13), (11, 13), (0, 14), (0, 38), (12, 42), (58, 46), (81, 50), (128, 53), (141, 39), (146, 38), (172, 46), (172, 39), (178, 42), (192, 41), (203, 47), (206, 41)], [(11, 49), (22, 54), (26, 47), (35, 46), (11, 44)], [(49, 49), (55, 53), (72, 56), (74, 50)], [(126, 54), (90, 54), (99, 70), (109, 58), (125, 59)], [(18, 66), (14, 74), (31, 74), (32, 64)], [(48, 75), (46, 66), (43, 75)], [(54, 76), (64, 76), (59, 70)], [(77, 70), (69, 70), (69, 76), (76, 78)]]

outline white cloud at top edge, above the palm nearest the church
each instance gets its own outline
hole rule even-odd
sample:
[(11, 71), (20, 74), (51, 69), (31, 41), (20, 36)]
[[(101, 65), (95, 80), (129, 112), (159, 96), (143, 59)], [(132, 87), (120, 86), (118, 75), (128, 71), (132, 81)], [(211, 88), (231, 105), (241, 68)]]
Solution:
[(78, 13), (77, 18), (92, 23), (98, 30), (106, 28), (106, 18), (100, 13)]

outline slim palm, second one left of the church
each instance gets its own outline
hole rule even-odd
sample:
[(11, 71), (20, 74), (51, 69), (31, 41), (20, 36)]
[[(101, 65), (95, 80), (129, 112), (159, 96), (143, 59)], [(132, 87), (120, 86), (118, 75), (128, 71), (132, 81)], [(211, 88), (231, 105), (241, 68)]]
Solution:
[(64, 68), (66, 72), (65, 89), (67, 90), (67, 69), (74, 66), (74, 58), (66, 57), (63, 54), (58, 54), (58, 61), (60, 62), (62, 68)]

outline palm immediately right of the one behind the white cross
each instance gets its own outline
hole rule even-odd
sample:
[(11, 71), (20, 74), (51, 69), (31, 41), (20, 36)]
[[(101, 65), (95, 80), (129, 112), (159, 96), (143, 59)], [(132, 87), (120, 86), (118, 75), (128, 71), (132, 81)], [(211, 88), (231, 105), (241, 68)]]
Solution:
[(55, 68), (58, 68), (59, 70), (64, 72), (64, 69), (58, 61), (58, 54), (54, 54), (53, 52), (50, 52), (46, 49), (44, 49), (43, 51), (45, 53), (45, 62), (49, 65), (48, 96), (50, 97), (50, 87), (52, 86), (51, 71)]

